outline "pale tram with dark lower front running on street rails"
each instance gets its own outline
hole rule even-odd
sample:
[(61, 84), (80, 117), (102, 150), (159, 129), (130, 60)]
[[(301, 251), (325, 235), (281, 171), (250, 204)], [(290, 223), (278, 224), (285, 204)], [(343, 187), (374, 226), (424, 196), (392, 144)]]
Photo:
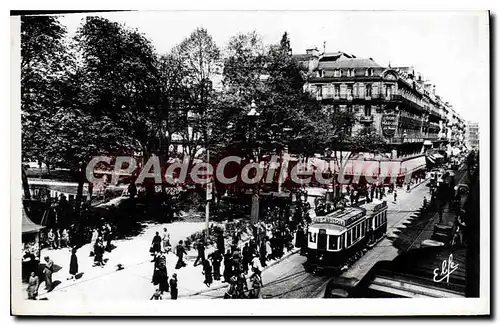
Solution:
[(347, 207), (315, 217), (307, 232), (306, 271), (340, 272), (380, 241), (387, 231), (387, 202)]

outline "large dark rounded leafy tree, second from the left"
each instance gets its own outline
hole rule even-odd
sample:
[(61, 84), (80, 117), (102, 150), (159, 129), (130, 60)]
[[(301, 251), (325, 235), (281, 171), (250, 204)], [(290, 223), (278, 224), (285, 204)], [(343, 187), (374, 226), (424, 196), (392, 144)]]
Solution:
[[(158, 62), (151, 42), (136, 30), (100, 17), (87, 17), (78, 29), (81, 55), (78, 84), (80, 108), (114, 132), (125, 133), (133, 143), (113, 138), (102, 150), (148, 157), (158, 126)], [(119, 136), (118, 134), (115, 135)]]

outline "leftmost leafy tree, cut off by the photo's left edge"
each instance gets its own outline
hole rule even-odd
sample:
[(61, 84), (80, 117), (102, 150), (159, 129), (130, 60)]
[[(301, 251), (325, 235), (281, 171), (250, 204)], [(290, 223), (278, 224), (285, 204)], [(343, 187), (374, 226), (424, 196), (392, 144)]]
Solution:
[(57, 18), (21, 19), (21, 123), (23, 160), (48, 168), (61, 161), (53, 139), (54, 115), (62, 109), (62, 91), (71, 68), (66, 30)]

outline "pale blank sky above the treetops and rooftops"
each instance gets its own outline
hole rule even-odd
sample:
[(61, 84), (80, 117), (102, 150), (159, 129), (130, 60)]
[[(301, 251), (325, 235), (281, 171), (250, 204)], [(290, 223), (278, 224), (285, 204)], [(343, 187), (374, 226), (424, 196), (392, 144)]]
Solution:
[[(137, 28), (167, 53), (197, 27), (223, 48), (239, 32), (264, 44), (288, 32), (294, 54), (318, 47), (373, 58), (382, 66), (413, 66), (436, 85), (465, 120), (489, 111), (489, 26), (484, 11), (140, 11), (99, 13)], [(83, 14), (62, 16), (72, 35)]]

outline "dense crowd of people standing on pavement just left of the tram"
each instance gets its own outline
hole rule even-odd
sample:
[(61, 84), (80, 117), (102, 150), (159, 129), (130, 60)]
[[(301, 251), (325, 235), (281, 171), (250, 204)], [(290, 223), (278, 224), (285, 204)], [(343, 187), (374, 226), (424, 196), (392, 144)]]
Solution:
[[(285, 251), (294, 247), (294, 235), (288, 225), (261, 221), (251, 225), (250, 228), (252, 235), (244, 241), (241, 238), (242, 232), (235, 232), (228, 239), (224, 231), (219, 230), (216, 235), (215, 248), (209, 254), (207, 254), (209, 248), (204, 239), (194, 244), (197, 256), (193, 266), (201, 265), (203, 283), (207, 287), (210, 287), (214, 281), (227, 283), (225, 298), (259, 298), (263, 269), (270, 261), (281, 259)], [(297, 243), (305, 242), (302, 240)], [(169, 280), (166, 264), (166, 254), (171, 250), (167, 229), (164, 228), (162, 234), (156, 232), (150, 247), (154, 263), (151, 282), (155, 286), (151, 300), (163, 299), (166, 292), (170, 292), (171, 299), (177, 299), (178, 272)], [(175, 269), (181, 270), (187, 266), (184, 241), (180, 240), (173, 251), (177, 256)]]

